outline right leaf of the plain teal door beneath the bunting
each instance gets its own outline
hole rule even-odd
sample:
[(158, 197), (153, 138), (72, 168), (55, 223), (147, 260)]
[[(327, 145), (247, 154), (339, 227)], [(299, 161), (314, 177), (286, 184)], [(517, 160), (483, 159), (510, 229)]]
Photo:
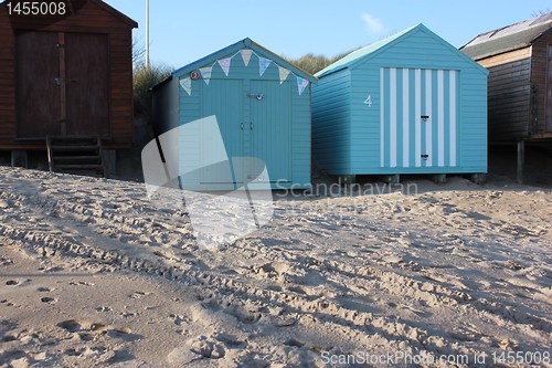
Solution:
[[(251, 81), (251, 157), (265, 162), (270, 182), (291, 181), (291, 83)], [(253, 96), (258, 97), (253, 97)], [(252, 172), (251, 177), (258, 175)], [(258, 178), (266, 182), (268, 178)]]

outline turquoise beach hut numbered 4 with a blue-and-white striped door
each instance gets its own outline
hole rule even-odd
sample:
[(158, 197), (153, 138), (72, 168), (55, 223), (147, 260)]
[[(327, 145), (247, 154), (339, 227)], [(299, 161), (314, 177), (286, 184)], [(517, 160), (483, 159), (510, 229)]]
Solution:
[(487, 172), (488, 72), (423, 24), (316, 74), (314, 156), (328, 174)]

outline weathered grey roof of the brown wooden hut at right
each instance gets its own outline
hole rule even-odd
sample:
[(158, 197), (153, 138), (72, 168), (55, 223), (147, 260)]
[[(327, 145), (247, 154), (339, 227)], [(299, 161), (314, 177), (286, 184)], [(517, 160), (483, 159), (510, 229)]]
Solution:
[(481, 60), (527, 48), (550, 29), (552, 29), (552, 12), (481, 33), (460, 50), (474, 60)]

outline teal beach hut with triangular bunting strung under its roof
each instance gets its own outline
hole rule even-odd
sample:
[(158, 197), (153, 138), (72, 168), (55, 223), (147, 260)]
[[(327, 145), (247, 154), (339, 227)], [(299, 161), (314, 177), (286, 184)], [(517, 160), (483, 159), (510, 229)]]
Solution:
[[(267, 175), (244, 172), (246, 180), (253, 178), (273, 189), (308, 188), (310, 85), (315, 81), (312, 75), (244, 39), (174, 71), (153, 87), (155, 129), (162, 135), (177, 127), (198, 126), (192, 123), (202, 118), (216, 119), (216, 129), (197, 133), (202, 136), (191, 137), (195, 134), (191, 129), (181, 130), (188, 133), (177, 143), (179, 154), (170, 159), (180, 160), (181, 171), (184, 160), (198, 168), (195, 181), (184, 183), (187, 187), (240, 187), (241, 176), (232, 161), (250, 157), (262, 160)], [(222, 143), (215, 139), (219, 136)], [(211, 162), (208, 156), (219, 155), (214, 150), (230, 160), (231, 171), (203, 167)]]

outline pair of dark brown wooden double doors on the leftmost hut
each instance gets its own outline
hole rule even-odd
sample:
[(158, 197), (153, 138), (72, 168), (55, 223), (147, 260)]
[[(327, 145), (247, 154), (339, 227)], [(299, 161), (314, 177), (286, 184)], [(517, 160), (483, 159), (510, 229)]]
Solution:
[(107, 35), (21, 32), (18, 138), (109, 134)]

